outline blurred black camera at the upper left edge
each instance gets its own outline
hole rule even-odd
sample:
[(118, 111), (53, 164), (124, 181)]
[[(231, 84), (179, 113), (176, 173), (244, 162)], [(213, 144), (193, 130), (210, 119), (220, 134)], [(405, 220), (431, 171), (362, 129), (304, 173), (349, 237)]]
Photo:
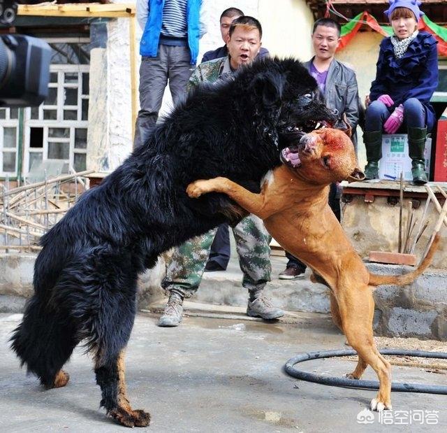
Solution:
[[(10, 25), (17, 2), (0, 1), (0, 21)], [(0, 36), (0, 106), (40, 105), (48, 94), (51, 48), (31, 36)]]

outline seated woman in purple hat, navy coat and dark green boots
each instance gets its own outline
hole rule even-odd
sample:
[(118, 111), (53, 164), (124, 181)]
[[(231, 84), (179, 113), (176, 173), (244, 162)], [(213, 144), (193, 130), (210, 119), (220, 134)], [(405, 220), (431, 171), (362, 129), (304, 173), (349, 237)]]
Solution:
[(437, 41), (418, 31), (423, 12), (417, 0), (390, 0), (385, 14), (394, 35), (380, 44), (376, 79), (371, 84), (366, 111), (365, 142), (367, 179), (378, 178), (382, 133), (408, 134), (413, 182), (427, 183), (425, 138), (435, 122), (430, 98), (438, 85)]

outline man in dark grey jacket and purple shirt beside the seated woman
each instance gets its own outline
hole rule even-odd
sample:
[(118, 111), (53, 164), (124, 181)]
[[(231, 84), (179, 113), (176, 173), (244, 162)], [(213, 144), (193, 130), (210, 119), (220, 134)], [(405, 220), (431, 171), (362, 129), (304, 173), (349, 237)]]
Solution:
[[(362, 106), (358, 97), (356, 73), (335, 59), (335, 50), (340, 42), (340, 31), (340, 24), (330, 18), (317, 20), (312, 31), (315, 56), (306, 62), (305, 66), (316, 79), (326, 105), (338, 112), (339, 121), (334, 125), (335, 128), (344, 129), (342, 116), (346, 114), (353, 130), (351, 139), (357, 150), (356, 127)], [(339, 220), (340, 204), (336, 184), (330, 185), (329, 204)], [(279, 274), (279, 278), (291, 280), (304, 277), (306, 265), (290, 253), (286, 253), (286, 257), (288, 258), (287, 267)]]

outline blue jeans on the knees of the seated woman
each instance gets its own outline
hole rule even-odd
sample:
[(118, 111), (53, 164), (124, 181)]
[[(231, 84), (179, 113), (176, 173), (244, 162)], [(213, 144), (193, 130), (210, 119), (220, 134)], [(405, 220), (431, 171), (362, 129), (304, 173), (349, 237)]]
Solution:
[[(397, 133), (406, 132), (408, 128), (425, 128), (425, 107), (423, 104), (416, 98), (410, 98), (403, 105), (404, 122)], [(393, 108), (388, 108), (381, 101), (372, 101), (366, 110), (365, 131), (382, 131), (383, 124), (393, 111)]]

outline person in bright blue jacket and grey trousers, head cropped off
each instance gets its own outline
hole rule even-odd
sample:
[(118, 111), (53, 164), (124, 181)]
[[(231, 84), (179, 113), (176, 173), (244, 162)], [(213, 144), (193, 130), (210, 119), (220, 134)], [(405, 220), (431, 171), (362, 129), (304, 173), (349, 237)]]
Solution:
[(137, 0), (137, 20), (143, 33), (135, 147), (145, 143), (155, 125), (168, 82), (174, 104), (184, 95), (196, 66), (199, 38), (206, 29), (202, 3), (202, 0)]

